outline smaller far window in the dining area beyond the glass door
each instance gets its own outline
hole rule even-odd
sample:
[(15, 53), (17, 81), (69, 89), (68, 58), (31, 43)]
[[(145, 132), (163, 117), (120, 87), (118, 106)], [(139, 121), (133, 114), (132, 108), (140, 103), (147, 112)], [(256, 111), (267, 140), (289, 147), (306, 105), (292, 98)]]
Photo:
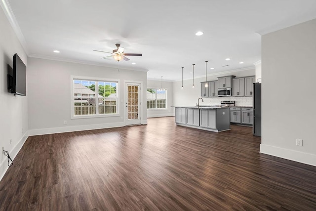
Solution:
[(147, 109), (167, 108), (167, 90), (147, 89)]

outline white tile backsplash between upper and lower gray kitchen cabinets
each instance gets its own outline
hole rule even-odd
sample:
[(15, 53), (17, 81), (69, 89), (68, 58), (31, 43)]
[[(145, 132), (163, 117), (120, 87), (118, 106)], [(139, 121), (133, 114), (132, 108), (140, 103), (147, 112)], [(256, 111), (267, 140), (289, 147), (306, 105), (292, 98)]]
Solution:
[(235, 100), (236, 106), (252, 106), (252, 97), (203, 97), (200, 105), (221, 105), (223, 100)]

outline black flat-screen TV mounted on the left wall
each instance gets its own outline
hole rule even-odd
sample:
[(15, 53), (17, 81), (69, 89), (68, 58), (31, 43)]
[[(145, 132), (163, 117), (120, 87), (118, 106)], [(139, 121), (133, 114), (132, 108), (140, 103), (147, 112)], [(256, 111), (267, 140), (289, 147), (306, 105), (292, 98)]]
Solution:
[(8, 92), (26, 95), (26, 65), (18, 54), (13, 56), (13, 68), (8, 65)]

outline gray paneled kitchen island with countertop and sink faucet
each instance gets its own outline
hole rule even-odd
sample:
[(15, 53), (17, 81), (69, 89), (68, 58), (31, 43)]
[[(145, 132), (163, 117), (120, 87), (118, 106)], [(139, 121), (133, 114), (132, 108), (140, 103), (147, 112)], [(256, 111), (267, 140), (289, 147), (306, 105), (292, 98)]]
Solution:
[(231, 129), (230, 109), (220, 106), (172, 106), (178, 126), (213, 132)]

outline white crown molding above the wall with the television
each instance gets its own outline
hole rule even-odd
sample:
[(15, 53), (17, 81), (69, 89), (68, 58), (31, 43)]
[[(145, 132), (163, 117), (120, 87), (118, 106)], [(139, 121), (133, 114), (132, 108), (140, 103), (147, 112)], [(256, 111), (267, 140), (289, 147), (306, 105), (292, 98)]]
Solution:
[(6, 18), (8, 19), (11, 27), (13, 28), (13, 31), (15, 32), (18, 40), (20, 41), (24, 51), (26, 52), (26, 54), (29, 54), (25, 38), (24, 38), (23, 33), (21, 31), (21, 28), (20, 28), (20, 26), (15, 18), (15, 15), (13, 14), (12, 8), (11, 8), (8, 0), (0, 0), (0, 5), (1, 5), (2, 10), (3, 10)]

